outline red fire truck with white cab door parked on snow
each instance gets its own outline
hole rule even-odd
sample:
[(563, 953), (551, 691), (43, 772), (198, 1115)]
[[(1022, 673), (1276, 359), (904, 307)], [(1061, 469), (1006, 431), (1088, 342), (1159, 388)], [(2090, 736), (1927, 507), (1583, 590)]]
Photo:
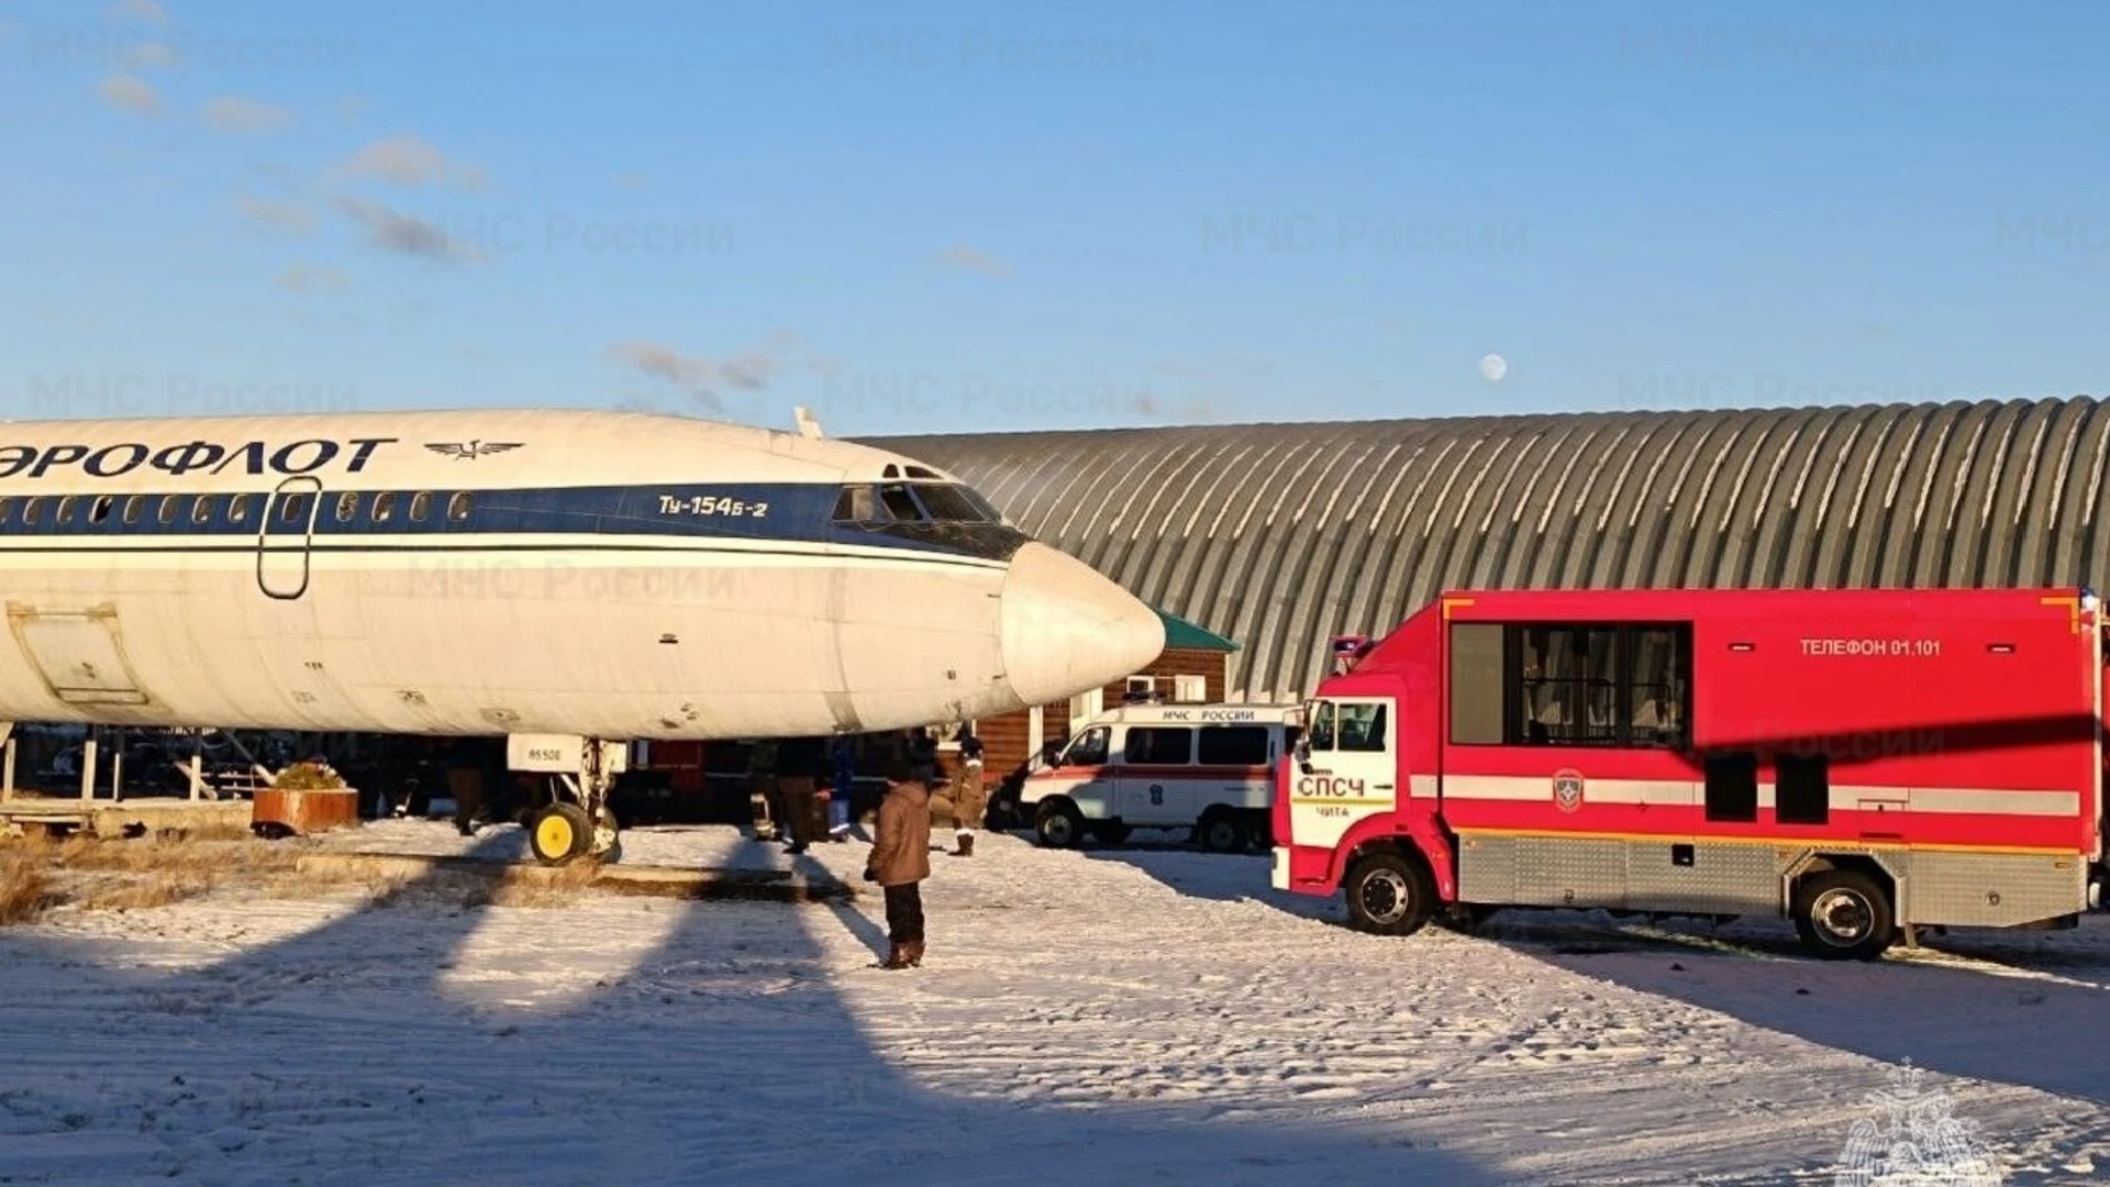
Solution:
[(1279, 769), (1274, 887), (1365, 931), (1785, 915), (1874, 959), (2102, 906), (2087, 589), (1458, 591), (1338, 657)]

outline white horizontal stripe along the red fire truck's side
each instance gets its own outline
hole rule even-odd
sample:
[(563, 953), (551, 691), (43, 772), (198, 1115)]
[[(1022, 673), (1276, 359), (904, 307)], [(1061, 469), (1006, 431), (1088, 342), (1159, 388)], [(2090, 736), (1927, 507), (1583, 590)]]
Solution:
[[(1460, 800), (1532, 803), (1553, 798), (1551, 777), (1450, 775), (1443, 794)], [(1582, 803), (1692, 807), (1701, 784), (1671, 779), (1587, 779)], [(1412, 794), (1435, 798), (1437, 777), (1416, 775)], [(1758, 786), (1758, 807), (1775, 807), (1775, 786)], [(1834, 811), (1926, 811), (1973, 815), (2080, 815), (2080, 792), (2002, 788), (1831, 788)]]

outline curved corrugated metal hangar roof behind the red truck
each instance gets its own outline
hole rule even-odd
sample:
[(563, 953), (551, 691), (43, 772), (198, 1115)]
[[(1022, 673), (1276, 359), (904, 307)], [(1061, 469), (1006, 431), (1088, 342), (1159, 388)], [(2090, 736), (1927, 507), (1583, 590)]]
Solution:
[(1304, 695), (1445, 587), (2110, 587), (2095, 399), (888, 437)]

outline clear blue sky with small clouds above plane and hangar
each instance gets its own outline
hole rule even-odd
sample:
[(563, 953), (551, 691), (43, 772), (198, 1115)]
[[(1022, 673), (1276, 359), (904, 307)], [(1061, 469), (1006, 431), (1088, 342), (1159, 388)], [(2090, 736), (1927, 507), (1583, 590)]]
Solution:
[(806, 403), (850, 435), (2102, 393), (2106, 32), (0, 0), (0, 414)]

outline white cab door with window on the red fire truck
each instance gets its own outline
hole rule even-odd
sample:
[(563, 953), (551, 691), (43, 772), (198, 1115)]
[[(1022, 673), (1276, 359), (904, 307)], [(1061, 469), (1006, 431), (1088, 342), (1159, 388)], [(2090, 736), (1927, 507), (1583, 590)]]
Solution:
[(1395, 697), (1312, 701), (1308, 758), (1291, 769), (1289, 839), (1331, 849), (1359, 822), (1399, 807)]

